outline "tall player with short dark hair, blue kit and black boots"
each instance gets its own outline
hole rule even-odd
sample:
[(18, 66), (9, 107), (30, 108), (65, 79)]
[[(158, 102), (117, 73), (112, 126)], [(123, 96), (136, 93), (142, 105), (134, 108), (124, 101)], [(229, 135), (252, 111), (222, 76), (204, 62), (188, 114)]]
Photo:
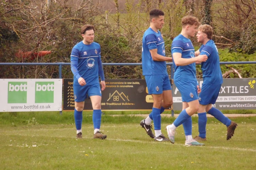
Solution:
[[(164, 24), (164, 13), (153, 9), (149, 12), (150, 26), (142, 38), (142, 72), (145, 76), (148, 94), (153, 97), (153, 108), (149, 116), (140, 122), (146, 133), (156, 141), (169, 141), (161, 132), (161, 113), (171, 107), (172, 88), (166, 69), (166, 61), (171, 57), (165, 56), (164, 40), (159, 31)], [(151, 130), (154, 122), (155, 135)]]

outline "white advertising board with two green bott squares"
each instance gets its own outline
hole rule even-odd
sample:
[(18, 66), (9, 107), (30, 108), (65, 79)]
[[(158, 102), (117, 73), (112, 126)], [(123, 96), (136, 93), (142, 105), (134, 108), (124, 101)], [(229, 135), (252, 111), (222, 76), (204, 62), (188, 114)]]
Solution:
[(62, 79), (0, 79), (0, 112), (62, 110)]

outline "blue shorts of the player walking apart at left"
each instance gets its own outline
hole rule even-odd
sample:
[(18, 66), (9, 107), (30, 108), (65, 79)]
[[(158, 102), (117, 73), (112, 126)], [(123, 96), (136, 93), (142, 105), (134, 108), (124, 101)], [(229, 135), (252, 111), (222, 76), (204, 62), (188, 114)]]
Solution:
[(101, 89), (99, 83), (93, 85), (73, 85), (74, 98), (76, 102), (83, 102), (87, 96), (101, 96)]

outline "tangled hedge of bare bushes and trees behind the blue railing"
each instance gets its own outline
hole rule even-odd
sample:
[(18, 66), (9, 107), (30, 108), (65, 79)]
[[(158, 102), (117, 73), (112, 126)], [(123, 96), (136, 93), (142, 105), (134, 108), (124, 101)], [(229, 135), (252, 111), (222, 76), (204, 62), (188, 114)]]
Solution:
[[(71, 49), (82, 40), (80, 28), (83, 24), (94, 24), (95, 41), (101, 45), (103, 63), (141, 63), (141, 41), (144, 31), (149, 27), (148, 12), (160, 8), (165, 12), (165, 25), (161, 29), (166, 45), (166, 56), (171, 56), (171, 42), (181, 31), (181, 18), (192, 14), (201, 20), (204, 16), (204, 2), (131, 0), (118, 4), (116, 9), (102, 12), (101, 3), (93, 4), (84, 0), (74, 4), (67, 1), (1, 1), (0, 4), (0, 62), (70, 62)], [(113, 1), (117, 2), (117, 1)], [(120, 3), (120, 1), (118, 1)], [(247, 2), (247, 1), (246, 1)], [(102, 1), (103, 3), (103, 1)], [(248, 2), (251, 4), (252, 2)], [(157, 5), (157, 6), (156, 6)], [(255, 61), (255, 10), (248, 15), (246, 5), (237, 1), (219, 1), (212, 5), (212, 24), (214, 34), (222, 35), (234, 42), (228, 50), (238, 53), (224, 53), (221, 61)], [(193, 7), (190, 9), (190, 7)], [(194, 11), (188, 11), (194, 10)], [(209, 11), (208, 11), (209, 12)], [(209, 13), (208, 13), (209, 14)], [(233, 15), (234, 14), (234, 15)], [(191, 38), (197, 46), (196, 38)], [(220, 38), (217, 43), (227, 43)], [(19, 51), (46, 51), (51, 54), (26, 58), (17, 57)], [(240, 54), (241, 53), (241, 54)], [(250, 55), (249, 55), (250, 54)], [(221, 55), (221, 54), (220, 54)], [(244, 66), (244, 65), (243, 65)], [(255, 77), (255, 66), (233, 66), (243, 77)], [(107, 78), (142, 78), (141, 66), (106, 66)], [(168, 68), (169, 69), (169, 68)], [(228, 71), (229, 66), (222, 66)], [(170, 71), (170, 70), (169, 70)], [(197, 66), (198, 77), (201, 76)], [(237, 75), (230, 74), (231, 77)], [(57, 78), (58, 66), (3, 66), (0, 67), (0, 78)], [(62, 68), (62, 78), (73, 78), (70, 66)]]

